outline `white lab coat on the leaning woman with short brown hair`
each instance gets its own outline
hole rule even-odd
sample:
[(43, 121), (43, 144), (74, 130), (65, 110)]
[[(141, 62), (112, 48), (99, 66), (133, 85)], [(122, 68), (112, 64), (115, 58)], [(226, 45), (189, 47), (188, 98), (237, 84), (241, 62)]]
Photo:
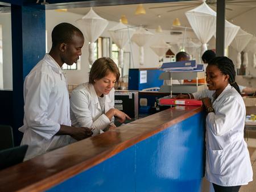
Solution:
[[(114, 126), (114, 117), (110, 122), (109, 118), (102, 114), (94, 86), (88, 82), (77, 86), (72, 91), (70, 107), (72, 125), (92, 128), (93, 136), (110, 124)], [(108, 112), (110, 108), (114, 108), (114, 88), (108, 95), (105, 95), (105, 112)]]

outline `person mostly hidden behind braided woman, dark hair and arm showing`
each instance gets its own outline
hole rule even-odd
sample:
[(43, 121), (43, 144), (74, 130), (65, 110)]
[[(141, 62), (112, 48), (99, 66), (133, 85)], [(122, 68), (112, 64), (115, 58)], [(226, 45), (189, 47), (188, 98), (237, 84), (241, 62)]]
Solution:
[[(210, 60), (214, 59), (216, 57), (216, 54), (214, 51), (212, 50), (207, 50), (204, 52), (204, 54), (202, 55), (202, 60), (204, 62), (204, 64), (208, 64), (208, 62), (210, 62)], [(254, 87), (246, 87), (246, 86), (242, 86), (242, 85), (238, 85), (240, 92), (243, 94), (255, 94), (256, 93), (256, 88)]]

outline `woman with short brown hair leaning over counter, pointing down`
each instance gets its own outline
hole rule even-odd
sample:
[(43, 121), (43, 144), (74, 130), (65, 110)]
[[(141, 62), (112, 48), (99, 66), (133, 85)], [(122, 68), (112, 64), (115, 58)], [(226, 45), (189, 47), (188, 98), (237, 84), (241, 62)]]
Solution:
[(114, 116), (123, 123), (131, 119), (114, 108), (114, 85), (119, 80), (115, 62), (102, 57), (90, 69), (89, 82), (77, 86), (71, 94), (71, 121), (75, 127), (92, 128), (93, 136), (115, 128)]

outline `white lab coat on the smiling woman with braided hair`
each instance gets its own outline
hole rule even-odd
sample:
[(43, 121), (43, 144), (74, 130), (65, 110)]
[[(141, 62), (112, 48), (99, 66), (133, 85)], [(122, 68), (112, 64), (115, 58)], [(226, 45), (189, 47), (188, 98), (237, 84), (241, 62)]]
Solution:
[(204, 90), (193, 94), (196, 99), (209, 97), (215, 110), (206, 119), (205, 177), (220, 186), (246, 185), (253, 181), (253, 170), (243, 139), (245, 104), (229, 84), (215, 101), (214, 92)]

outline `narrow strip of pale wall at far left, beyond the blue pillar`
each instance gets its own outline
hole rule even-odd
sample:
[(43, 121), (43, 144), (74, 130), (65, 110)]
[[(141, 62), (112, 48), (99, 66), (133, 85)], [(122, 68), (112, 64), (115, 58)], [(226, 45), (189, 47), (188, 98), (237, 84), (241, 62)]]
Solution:
[(2, 25), (3, 38), (3, 87), (2, 89), (13, 89), (13, 57), (11, 51), (11, 14), (0, 13), (0, 24)]

